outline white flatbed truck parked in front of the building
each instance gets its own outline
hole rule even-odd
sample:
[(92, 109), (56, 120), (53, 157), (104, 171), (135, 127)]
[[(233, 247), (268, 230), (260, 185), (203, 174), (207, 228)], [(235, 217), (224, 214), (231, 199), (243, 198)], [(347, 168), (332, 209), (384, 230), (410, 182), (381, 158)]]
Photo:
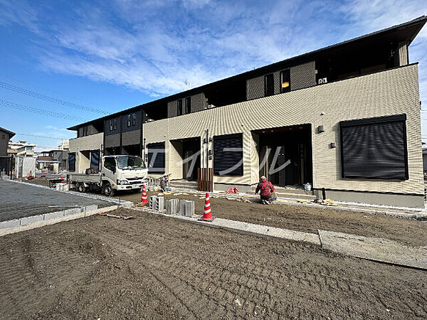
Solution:
[(148, 169), (140, 156), (102, 156), (97, 174), (68, 174), (68, 182), (80, 192), (100, 191), (113, 196), (115, 191), (141, 191), (147, 183)]

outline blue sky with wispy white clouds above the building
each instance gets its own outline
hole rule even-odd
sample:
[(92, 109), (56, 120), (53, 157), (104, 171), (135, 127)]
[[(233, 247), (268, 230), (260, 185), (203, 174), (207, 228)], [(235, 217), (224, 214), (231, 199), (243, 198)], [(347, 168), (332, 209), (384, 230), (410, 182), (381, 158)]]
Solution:
[[(0, 127), (53, 149), (75, 124), (423, 15), (425, 0), (0, 0)], [(427, 142), (427, 26), (409, 58)]]

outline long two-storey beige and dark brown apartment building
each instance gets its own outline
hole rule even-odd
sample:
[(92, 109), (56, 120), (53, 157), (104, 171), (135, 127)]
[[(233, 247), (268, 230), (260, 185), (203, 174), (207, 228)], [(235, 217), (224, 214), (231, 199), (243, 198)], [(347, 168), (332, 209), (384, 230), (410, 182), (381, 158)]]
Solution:
[[(423, 207), (418, 63), (422, 16), (68, 129), (69, 170), (134, 154), (149, 174), (248, 191), (311, 183), (338, 201)], [(188, 157), (191, 161), (185, 161)]]

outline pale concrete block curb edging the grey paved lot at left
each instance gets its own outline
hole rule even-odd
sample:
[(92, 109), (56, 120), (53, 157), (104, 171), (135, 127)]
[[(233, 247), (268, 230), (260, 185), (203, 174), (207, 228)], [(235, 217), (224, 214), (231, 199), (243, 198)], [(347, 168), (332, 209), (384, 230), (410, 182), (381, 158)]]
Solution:
[[(95, 208), (96, 207), (96, 208)], [(25, 217), (21, 219), (2, 221), (0, 223), (0, 237), (3, 235), (9, 235), (11, 233), (20, 233), (21, 231), (31, 230), (35, 228), (41, 228), (45, 225), (53, 225), (55, 223), (60, 223), (63, 221), (75, 220), (79, 218), (85, 218), (90, 215), (95, 215), (97, 213), (105, 213), (108, 211), (116, 210), (119, 206), (109, 206), (104, 208), (97, 208), (97, 206), (87, 206), (76, 209), (73, 214), (68, 210), (57, 211), (53, 213), (44, 213), (43, 215), (32, 215), (30, 217)], [(65, 214), (65, 211), (68, 211), (68, 214)], [(19, 223), (19, 224), (17, 224)]]

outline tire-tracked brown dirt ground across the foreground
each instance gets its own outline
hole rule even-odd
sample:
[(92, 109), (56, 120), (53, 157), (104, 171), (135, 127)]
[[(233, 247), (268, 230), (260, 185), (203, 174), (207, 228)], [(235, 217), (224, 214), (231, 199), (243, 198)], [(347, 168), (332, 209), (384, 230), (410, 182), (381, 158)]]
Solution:
[(426, 319), (427, 272), (135, 210), (0, 238), (4, 319)]

